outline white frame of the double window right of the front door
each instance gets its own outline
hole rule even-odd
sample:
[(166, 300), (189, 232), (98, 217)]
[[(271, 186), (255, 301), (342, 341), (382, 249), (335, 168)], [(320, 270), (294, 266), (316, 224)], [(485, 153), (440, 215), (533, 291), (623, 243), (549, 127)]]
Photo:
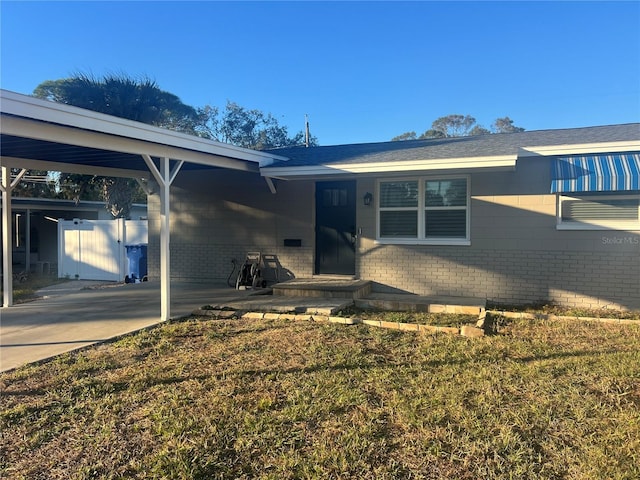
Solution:
[[(465, 207), (427, 207), (425, 205), (425, 185), (427, 181), (447, 181), (464, 178), (467, 181), (467, 204)], [(388, 210), (416, 211), (418, 217), (417, 237), (380, 237), (380, 184), (390, 182), (418, 182), (417, 207), (393, 207)], [(376, 180), (376, 240), (379, 245), (471, 245), (471, 175), (429, 175), (421, 177), (379, 178)], [(425, 212), (427, 210), (466, 210), (466, 236), (461, 237), (425, 237)]]

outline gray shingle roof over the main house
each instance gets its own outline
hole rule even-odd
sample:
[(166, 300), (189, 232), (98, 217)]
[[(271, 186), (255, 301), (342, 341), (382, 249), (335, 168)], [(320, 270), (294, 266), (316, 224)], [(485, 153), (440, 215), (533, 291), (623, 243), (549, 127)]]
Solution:
[(274, 168), (282, 168), (330, 165), (332, 163), (358, 164), (517, 155), (518, 149), (522, 147), (630, 140), (640, 141), (640, 123), (430, 140), (405, 140), (309, 148), (287, 147), (268, 150), (268, 152), (289, 158), (288, 161), (271, 165)]

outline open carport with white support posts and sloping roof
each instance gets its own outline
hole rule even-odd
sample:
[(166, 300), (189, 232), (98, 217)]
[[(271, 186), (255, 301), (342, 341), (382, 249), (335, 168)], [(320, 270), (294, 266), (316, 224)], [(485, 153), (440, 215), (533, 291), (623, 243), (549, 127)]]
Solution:
[[(7, 90), (0, 90), (0, 114), (3, 308), (13, 304), (11, 193), (27, 169), (135, 178), (148, 194), (159, 195), (161, 320), (168, 320), (170, 187), (178, 173), (232, 169), (259, 174), (260, 167), (285, 160)], [(11, 169), (19, 173), (12, 176)]]

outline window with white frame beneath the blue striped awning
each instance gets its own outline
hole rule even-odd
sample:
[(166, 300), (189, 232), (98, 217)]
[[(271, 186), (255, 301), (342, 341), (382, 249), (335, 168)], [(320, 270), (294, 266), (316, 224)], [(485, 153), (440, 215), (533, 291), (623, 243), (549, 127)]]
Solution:
[(558, 195), (559, 229), (640, 230), (640, 195)]

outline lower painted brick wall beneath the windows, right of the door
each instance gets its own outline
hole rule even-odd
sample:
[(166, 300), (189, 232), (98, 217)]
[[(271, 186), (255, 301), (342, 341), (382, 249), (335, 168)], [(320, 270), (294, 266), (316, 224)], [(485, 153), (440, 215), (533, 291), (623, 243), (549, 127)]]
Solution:
[[(363, 242), (364, 243), (364, 242)], [(363, 248), (366, 250), (366, 246)], [(500, 303), (640, 308), (640, 257), (624, 252), (518, 251), (384, 245), (359, 256), (375, 290), (486, 298)]]

